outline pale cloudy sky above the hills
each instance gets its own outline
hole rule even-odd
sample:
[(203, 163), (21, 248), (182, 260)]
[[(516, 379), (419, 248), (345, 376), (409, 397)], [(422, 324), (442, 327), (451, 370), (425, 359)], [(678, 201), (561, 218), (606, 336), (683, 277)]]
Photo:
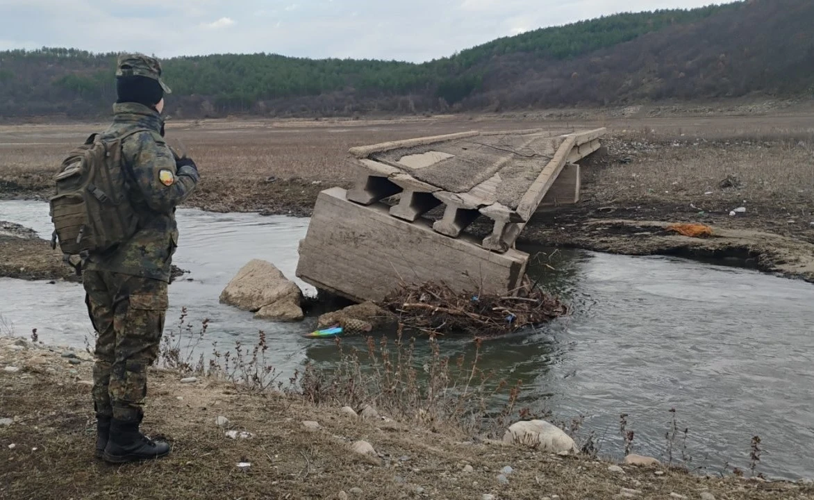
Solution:
[(0, 0), (0, 50), (422, 62), (530, 29), (711, 0)]

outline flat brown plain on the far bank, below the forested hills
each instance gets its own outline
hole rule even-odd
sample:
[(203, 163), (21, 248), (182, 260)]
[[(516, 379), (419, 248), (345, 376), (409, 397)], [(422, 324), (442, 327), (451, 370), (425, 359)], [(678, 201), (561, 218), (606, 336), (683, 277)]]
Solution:
[[(759, 104), (367, 121), (170, 120), (167, 138), (190, 151), (203, 176), (189, 206), (308, 216), (319, 191), (352, 186), (350, 147), (468, 129), (604, 126), (604, 147), (582, 162), (580, 203), (540, 213), (519, 243), (727, 258), (814, 281), (810, 114)], [(0, 126), (0, 199), (46, 199), (65, 151), (104, 126)], [(663, 230), (669, 223), (708, 225), (713, 234), (671, 234)], [(471, 227), (485, 230), (479, 222)], [(15, 261), (28, 254), (20, 252), (23, 244), (33, 243), (0, 246), (5, 275), (29, 268)]]

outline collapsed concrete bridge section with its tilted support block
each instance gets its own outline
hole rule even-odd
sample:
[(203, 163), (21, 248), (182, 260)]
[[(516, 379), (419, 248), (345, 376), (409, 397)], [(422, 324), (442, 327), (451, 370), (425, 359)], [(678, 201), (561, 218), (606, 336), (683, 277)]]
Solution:
[[(471, 131), (354, 147), (357, 182), (318, 197), (297, 276), (359, 301), (431, 279), (510, 293), (528, 257), (515, 240), (541, 205), (579, 201), (576, 162), (599, 149), (603, 134)], [(437, 208), (439, 220), (422, 217)], [(492, 234), (477, 241), (465, 230), (482, 216)]]

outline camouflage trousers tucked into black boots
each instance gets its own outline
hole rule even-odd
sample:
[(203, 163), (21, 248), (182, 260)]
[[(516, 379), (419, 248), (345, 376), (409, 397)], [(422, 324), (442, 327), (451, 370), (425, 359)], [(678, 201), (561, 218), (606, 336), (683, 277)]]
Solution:
[(158, 357), (168, 306), (167, 283), (85, 270), (85, 304), (97, 333), (94, 407), (97, 414), (139, 421), (147, 397), (147, 367)]

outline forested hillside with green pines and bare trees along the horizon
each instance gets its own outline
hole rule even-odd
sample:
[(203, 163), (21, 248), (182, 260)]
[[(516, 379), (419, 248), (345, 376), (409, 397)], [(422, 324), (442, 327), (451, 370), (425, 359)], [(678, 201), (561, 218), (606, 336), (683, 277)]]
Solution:
[[(504, 37), (424, 64), (282, 55), (164, 60), (175, 116), (328, 116), (606, 105), (814, 88), (814, 2), (619, 14)], [(116, 55), (0, 52), (0, 116), (99, 116)]]

